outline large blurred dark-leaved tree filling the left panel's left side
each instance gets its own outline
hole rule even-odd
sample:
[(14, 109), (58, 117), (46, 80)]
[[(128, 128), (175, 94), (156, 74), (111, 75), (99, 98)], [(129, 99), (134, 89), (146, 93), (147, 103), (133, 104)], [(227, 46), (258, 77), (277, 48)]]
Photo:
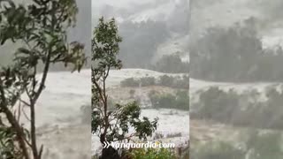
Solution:
[[(35, 107), (50, 65), (73, 64), (73, 71), (80, 72), (85, 62), (84, 46), (69, 43), (66, 37), (77, 12), (74, 0), (33, 0), (29, 4), (0, 0), (0, 44), (21, 44), (13, 64), (0, 70), (0, 117), (4, 117), (0, 118), (0, 149), (6, 158), (42, 158), (43, 147), (38, 148), (36, 142)], [(39, 66), (43, 67), (41, 78), (37, 76)], [(22, 107), (30, 112), (29, 129), (19, 120)]]

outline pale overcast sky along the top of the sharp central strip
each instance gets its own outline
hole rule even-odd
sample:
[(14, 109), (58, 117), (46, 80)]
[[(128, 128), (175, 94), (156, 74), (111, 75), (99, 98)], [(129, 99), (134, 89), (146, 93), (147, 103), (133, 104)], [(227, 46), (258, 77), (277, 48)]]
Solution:
[(93, 0), (93, 24), (102, 15), (118, 21), (168, 20), (172, 11), (184, 5), (188, 8), (188, 0)]

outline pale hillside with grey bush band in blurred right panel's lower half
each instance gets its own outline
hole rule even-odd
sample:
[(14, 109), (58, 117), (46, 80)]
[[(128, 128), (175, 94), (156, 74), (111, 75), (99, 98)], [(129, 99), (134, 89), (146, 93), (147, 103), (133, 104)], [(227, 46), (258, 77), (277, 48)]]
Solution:
[[(215, 141), (224, 141), (239, 148), (248, 139), (248, 134), (252, 130), (259, 131), (260, 134), (280, 132), (280, 127), (274, 125), (280, 121), (282, 111), (277, 109), (280, 108), (280, 99), (275, 94), (272, 99), (277, 100), (270, 100), (273, 96), (268, 96), (268, 90), (275, 88), (282, 92), (282, 86), (283, 83), (225, 83), (190, 79), (190, 143), (195, 145), (192, 146), (191, 152), (195, 153), (199, 144), (210, 145)], [(218, 87), (219, 90), (226, 92), (226, 95), (221, 91), (218, 91), (219, 95), (210, 92), (200, 102), (199, 96), (204, 96), (204, 93), (209, 89), (212, 90), (212, 87)], [(230, 89), (233, 89), (237, 95), (230, 92)], [(249, 94), (255, 90), (258, 94)], [(200, 109), (207, 114), (202, 117)], [(272, 117), (268, 112), (272, 112)], [(257, 140), (264, 139), (259, 137)], [(258, 148), (264, 147), (260, 141), (257, 144)], [(211, 153), (225, 155), (221, 149)]]

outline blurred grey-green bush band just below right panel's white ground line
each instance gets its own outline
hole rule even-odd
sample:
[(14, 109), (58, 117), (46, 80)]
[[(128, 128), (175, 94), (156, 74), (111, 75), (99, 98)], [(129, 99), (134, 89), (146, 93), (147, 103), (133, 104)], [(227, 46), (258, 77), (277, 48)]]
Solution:
[(256, 90), (249, 90), (242, 95), (233, 89), (228, 92), (218, 87), (210, 87), (200, 93), (199, 101), (192, 103), (192, 118), (211, 119), (218, 122), (253, 126), (258, 128), (282, 129), (283, 94), (276, 87), (265, 91), (267, 101)]

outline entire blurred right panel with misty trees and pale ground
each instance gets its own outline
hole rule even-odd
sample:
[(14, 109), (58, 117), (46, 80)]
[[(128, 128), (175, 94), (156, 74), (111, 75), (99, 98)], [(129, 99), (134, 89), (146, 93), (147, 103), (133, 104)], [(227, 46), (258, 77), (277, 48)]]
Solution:
[(279, 0), (192, 0), (190, 158), (283, 155)]

